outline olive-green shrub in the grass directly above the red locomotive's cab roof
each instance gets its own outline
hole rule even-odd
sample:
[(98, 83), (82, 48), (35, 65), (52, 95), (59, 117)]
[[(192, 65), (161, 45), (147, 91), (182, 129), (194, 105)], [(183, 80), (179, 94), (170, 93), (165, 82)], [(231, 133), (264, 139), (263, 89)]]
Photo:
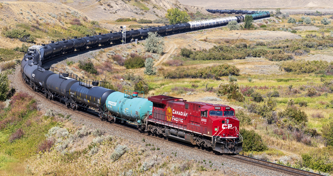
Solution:
[(244, 102), (245, 97), (235, 82), (221, 83), (217, 89), (218, 95), (225, 95), (227, 99), (233, 99), (238, 102)]

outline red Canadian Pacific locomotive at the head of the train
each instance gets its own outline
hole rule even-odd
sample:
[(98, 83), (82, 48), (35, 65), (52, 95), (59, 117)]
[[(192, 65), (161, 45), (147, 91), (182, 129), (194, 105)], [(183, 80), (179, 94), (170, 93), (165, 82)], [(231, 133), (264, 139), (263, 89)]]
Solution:
[(239, 121), (233, 108), (186, 102), (165, 95), (152, 96), (148, 100), (153, 102), (153, 109), (146, 121), (146, 130), (220, 153), (242, 150)]

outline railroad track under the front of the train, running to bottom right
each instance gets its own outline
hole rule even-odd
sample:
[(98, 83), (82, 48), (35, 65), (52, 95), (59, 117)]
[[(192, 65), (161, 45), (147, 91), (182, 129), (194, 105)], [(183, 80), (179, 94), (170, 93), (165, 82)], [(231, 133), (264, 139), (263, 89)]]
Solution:
[[(41, 92), (33, 91), (31, 89), (31, 87), (24, 82), (23, 78), (20, 79), (20, 80), (21, 80), (22, 84), (29, 91), (31, 91), (34, 94), (36, 94), (37, 96), (45, 99), (44, 94), (42, 94)], [(54, 104), (55, 106), (58, 106), (59, 108), (66, 108), (67, 109), (66, 105), (63, 104), (63, 103), (60, 103), (58, 101), (49, 101), (47, 99), (45, 99), (45, 100)], [(92, 111), (85, 112), (85, 111), (77, 111), (76, 110), (76, 111), (73, 111), (73, 112), (78, 113), (80, 115), (84, 115), (87, 118), (100, 121), (100, 119), (97, 116), (93, 115)], [(115, 127), (119, 127), (119, 128), (126, 128), (127, 130), (130, 130), (131, 132), (140, 133), (141, 135), (147, 136), (148, 138), (154, 138), (154, 139), (161, 140), (161, 141), (164, 141), (164, 142), (170, 142), (170, 143), (173, 143), (173, 144), (178, 145), (180, 147), (186, 147), (186, 148), (189, 148), (189, 149), (195, 149), (195, 150), (205, 152), (205, 153), (216, 154), (217, 157), (223, 157), (223, 158), (238, 161), (238, 162), (241, 162), (241, 163), (256, 165), (256, 166), (259, 166), (259, 167), (262, 167), (262, 168), (266, 168), (266, 169), (286, 173), (288, 175), (297, 175), (297, 176), (298, 175), (308, 175), (308, 176), (322, 175), (322, 174), (319, 174), (319, 173), (309, 172), (309, 171), (296, 169), (296, 168), (292, 168), (292, 167), (288, 167), (288, 166), (283, 166), (283, 165), (279, 165), (279, 164), (264, 161), (264, 160), (259, 160), (259, 159), (255, 159), (255, 158), (251, 158), (251, 157), (246, 157), (246, 156), (241, 155), (241, 154), (236, 154), (236, 155), (220, 154), (220, 153), (215, 153), (214, 151), (203, 150), (203, 149), (201, 149), (197, 146), (189, 145), (189, 144), (186, 144), (186, 143), (182, 143), (182, 142), (174, 141), (174, 140), (170, 140), (170, 139), (166, 140), (166, 139), (160, 138), (160, 137), (155, 136), (155, 135), (150, 135), (149, 133), (142, 133), (142, 132), (138, 131), (137, 129), (135, 129), (133, 125), (129, 125), (129, 124), (120, 125), (120, 124), (117, 124), (117, 123), (109, 123), (107, 121), (102, 121), (102, 123), (105, 123), (105, 124), (108, 124), (108, 125), (111, 125), (111, 126), (115, 126)]]

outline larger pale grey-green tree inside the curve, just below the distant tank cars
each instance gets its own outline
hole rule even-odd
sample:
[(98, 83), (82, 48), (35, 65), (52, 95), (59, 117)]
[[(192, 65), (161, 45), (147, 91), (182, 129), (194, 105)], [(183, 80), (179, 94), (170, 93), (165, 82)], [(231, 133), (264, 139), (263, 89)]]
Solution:
[(145, 40), (144, 49), (148, 52), (162, 54), (164, 50), (164, 41), (162, 37), (158, 37), (157, 33), (148, 32), (148, 38)]

